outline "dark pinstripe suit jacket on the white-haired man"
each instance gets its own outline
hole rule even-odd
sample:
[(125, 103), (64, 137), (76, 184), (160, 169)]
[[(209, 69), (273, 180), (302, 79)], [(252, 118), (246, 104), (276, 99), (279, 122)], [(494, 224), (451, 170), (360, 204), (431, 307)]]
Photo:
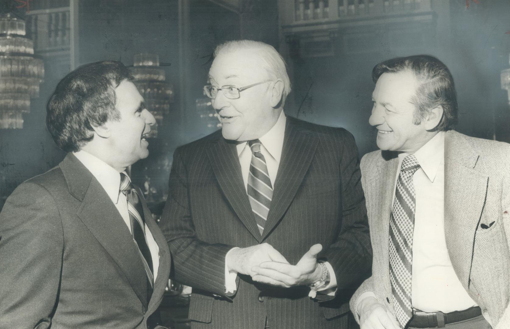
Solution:
[[(236, 144), (221, 131), (175, 151), (162, 216), (175, 280), (193, 287), (194, 328), (342, 328), (348, 300), (367, 277), (371, 248), (354, 139), (344, 129), (287, 117), (282, 160), (264, 234), (253, 217)], [(238, 275), (225, 295), (225, 255), (267, 242), (296, 264), (314, 243), (334, 268), (335, 298), (308, 287), (275, 288)]]

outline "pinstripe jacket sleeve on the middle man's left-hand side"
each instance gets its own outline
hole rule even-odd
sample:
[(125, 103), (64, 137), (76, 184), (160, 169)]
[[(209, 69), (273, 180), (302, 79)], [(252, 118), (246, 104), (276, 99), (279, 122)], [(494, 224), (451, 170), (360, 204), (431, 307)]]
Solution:
[(225, 256), (234, 246), (206, 243), (197, 238), (189, 203), (188, 174), (180, 148), (175, 150), (173, 159), (168, 198), (160, 223), (172, 253), (171, 276), (193, 289), (228, 298), (225, 295)]

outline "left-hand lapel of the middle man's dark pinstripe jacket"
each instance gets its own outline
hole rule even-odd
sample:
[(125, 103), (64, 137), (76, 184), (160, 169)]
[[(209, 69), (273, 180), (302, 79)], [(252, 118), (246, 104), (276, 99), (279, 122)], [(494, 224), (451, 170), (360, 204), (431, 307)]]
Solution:
[(207, 149), (207, 155), (216, 180), (228, 203), (251, 235), (261, 242), (262, 237), (244, 188), (236, 144), (226, 142), (220, 136), (218, 140), (211, 143), (211, 147)]

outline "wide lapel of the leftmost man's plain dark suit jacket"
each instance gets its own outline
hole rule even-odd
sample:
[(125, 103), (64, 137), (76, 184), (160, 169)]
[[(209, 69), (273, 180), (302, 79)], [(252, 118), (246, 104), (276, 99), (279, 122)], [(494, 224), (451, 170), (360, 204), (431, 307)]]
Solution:
[(106, 191), (73, 155), (60, 164), (70, 193), (82, 201), (78, 217), (120, 268), (143, 305), (147, 303), (145, 270), (133, 238)]

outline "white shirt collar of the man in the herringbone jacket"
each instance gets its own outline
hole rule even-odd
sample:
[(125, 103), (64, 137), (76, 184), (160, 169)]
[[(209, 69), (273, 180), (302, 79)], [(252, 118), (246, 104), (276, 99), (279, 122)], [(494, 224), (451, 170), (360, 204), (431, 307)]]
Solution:
[[(434, 182), (439, 166), (444, 161), (445, 154), (445, 132), (441, 131), (432, 137), (425, 145), (415, 152), (415, 157), (430, 182)], [(399, 154), (400, 162), (408, 154)]]

